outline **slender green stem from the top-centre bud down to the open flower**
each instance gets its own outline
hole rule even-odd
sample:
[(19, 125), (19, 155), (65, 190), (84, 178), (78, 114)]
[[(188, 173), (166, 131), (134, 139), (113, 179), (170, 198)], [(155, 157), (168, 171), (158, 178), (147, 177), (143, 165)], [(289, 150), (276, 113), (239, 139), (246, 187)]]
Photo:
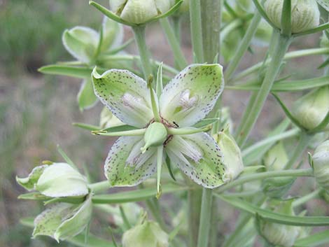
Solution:
[(150, 52), (148, 51), (146, 40), (145, 40), (145, 26), (132, 27), (134, 31), (135, 40), (137, 43), (137, 48), (139, 50), (139, 56), (141, 57), (141, 67), (143, 69), (145, 80), (148, 79), (148, 76), (153, 74)]

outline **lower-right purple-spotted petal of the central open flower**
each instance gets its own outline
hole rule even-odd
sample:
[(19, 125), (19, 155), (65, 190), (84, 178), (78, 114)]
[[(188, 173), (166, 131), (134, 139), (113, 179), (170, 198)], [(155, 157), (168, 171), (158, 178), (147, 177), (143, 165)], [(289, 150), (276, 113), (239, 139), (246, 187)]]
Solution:
[(166, 146), (172, 162), (204, 188), (216, 188), (225, 181), (222, 153), (214, 139), (206, 133), (174, 136)]

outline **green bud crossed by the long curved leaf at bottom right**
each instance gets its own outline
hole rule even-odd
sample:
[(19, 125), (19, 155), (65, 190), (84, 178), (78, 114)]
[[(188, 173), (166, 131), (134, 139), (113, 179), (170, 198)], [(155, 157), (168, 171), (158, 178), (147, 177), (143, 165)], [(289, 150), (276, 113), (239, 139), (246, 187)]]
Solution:
[[(293, 207), (291, 206), (292, 202), (293, 200), (279, 202), (279, 205), (274, 208), (274, 212), (295, 216)], [(293, 246), (297, 237), (300, 235), (300, 227), (293, 225), (272, 223), (262, 218), (258, 218), (256, 225), (259, 234), (273, 246)]]

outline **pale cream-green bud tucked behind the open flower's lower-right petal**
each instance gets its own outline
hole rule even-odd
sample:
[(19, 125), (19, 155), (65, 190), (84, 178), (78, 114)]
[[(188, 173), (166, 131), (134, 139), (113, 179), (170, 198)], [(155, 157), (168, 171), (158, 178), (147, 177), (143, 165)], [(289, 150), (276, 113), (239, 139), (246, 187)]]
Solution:
[(223, 164), (226, 167), (224, 180), (231, 181), (239, 176), (244, 169), (244, 163), (242, 162), (241, 150), (235, 139), (229, 133), (228, 127), (223, 132), (218, 132), (214, 139), (217, 141), (221, 152), (223, 153)]

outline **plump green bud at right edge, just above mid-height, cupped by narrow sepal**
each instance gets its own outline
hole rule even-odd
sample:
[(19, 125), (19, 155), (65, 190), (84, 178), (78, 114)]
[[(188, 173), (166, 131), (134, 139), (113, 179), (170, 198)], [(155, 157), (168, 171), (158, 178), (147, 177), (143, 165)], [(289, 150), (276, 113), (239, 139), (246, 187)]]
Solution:
[(305, 129), (317, 127), (329, 111), (329, 86), (319, 87), (295, 101), (292, 114)]

